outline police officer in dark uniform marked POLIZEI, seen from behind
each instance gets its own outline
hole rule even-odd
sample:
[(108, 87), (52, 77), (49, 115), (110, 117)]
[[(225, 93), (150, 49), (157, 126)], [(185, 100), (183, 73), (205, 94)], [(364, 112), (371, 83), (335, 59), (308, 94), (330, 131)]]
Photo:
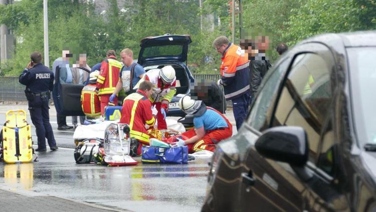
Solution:
[(19, 82), (26, 85), (25, 94), (29, 102), (30, 116), (37, 132), (38, 148), (35, 151), (47, 151), (46, 138), (50, 149), (55, 151), (58, 147), (50, 124), (48, 107), (54, 73), (42, 65), (41, 53), (33, 52), (30, 58), (31, 62), (20, 75)]

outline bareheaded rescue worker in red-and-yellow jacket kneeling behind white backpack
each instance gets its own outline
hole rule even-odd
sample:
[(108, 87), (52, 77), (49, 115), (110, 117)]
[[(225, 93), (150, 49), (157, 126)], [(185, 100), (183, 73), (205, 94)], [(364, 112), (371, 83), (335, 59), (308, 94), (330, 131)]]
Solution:
[[(154, 85), (150, 81), (141, 82), (135, 93), (125, 97), (121, 108), (120, 123), (128, 124), (130, 137), (137, 139), (138, 142), (144, 145), (149, 145), (149, 134), (145, 126), (153, 127), (155, 124), (149, 99), (153, 92), (153, 87)], [(137, 155), (141, 154), (141, 146), (138, 145)]]

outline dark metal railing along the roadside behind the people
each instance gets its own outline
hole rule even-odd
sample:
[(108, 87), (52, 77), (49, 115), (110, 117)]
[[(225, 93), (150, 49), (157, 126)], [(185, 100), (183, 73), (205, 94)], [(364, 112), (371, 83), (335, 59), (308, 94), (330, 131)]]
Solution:
[[(217, 82), (221, 78), (220, 74), (193, 74), (195, 79), (207, 79)], [(27, 101), (25, 96), (25, 85), (18, 81), (17, 76), (0, 77), (0, 101)], [(227, 106), (232, 106), (231, 101), (227, 101)]]

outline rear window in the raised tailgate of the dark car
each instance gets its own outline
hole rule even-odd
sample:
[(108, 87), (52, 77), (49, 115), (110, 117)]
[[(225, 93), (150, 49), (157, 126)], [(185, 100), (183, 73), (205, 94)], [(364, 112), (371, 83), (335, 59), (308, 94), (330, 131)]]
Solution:
[(150, 46), (144, 49), (142, 57), (180, 56), (182, 52), (182, 45)]

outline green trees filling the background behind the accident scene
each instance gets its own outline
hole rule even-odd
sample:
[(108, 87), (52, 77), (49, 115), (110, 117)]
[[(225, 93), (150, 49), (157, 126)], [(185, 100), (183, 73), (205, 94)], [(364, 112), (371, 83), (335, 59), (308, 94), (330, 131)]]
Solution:
[[(93, 1), (49, 0), (50, 66), (61, 57), (63, 48), (72, 51), (74, 60), (80, 53), (86, 53), (89, 65), (103, 60), (109, 49), (114, 49), (119, 56), (122, 49), (130, 48), (136, 59), (141, 39), (169, 33), (191, 35), (193, 43), (189, 47), (187, 65), (192, 72), (219, 73), (221, 56), (212, 43), (221, 35), (231, 37), (229, 2), (202, 0), (200, 10), (198, 0), (129, 0), (120, 10), (116, 0), (107, 0), (108, 9), (100, 15), (95, 13)], [(241, 2), (243, 32), (268, 33), (272, 41), (272, 60), (278, 57), (275, 47), (280, 42), (291, 46), (320, 33), (376, 29), (375, 0)], [(1, 64), (0, 74), (18, 75), (33, 51), (44, 52), (43, 0), (1, 5), (0, 14), (0, 24), (6, 24), (16, 36), (14, 57)], [(202, 30), (201, 15), (204, 18)], [(239, 44), (239, 14), (236, 27), (235, 43)]]

